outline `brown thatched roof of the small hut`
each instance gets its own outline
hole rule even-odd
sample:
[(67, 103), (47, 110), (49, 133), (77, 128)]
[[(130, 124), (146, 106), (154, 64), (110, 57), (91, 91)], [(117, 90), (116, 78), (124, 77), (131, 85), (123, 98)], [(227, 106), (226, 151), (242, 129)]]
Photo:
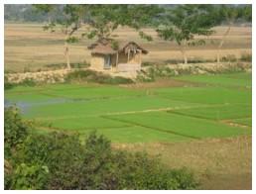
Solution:
[(94, 44), (90, 45), (88, 48), (91, 49), (91, 53), (102, 53), (102, 54), (114, 54), (118, 52), (128, 53), (129, 50), (131, 52), (136, 52), (137, 49), (141, 49), (142, 53), (148, 53), (149, 51), (141, 48), (135, 42), (126, 42), (126, 43), (118, 43), (118, 49), (112, 48), (112, 41), (111, 39), (101, 39), (95, 42)]

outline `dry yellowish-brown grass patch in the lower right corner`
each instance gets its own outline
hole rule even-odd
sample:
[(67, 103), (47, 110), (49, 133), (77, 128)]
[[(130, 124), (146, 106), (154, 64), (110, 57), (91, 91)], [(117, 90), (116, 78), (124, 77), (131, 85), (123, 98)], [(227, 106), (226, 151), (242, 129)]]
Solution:
[(115, 144), (126, 150), (160, 154), (171, 167), (187, 166), (201, 180), (201, 189), (251, 189), (252, 139), (237, 137), (174, 144)]

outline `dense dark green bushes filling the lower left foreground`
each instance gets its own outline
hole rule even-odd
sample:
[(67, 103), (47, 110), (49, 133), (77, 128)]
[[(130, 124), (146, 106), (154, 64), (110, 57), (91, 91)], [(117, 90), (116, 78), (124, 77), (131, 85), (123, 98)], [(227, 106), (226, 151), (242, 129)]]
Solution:
[(5, 109), (5, 189), (194, 189), (186, 169), (169, 169), (146, 153), (113, 150), (95, 133), (34, 134), (16, 108)]

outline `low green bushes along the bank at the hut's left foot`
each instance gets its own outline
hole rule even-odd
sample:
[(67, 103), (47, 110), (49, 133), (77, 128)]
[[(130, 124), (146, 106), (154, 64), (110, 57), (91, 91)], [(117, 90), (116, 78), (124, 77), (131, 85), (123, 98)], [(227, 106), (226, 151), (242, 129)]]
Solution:
[(112, 77), (107, 74), (103, 74), (101, 72), (93, 71), (93, 70), (75, 70), (68, 73), (65, 76), (65, 80), (67, 82), (70, 81), (78, 81), (78, 82), (95, 82), (102, 84), (127, 84), (133, 83), (133, 80), (125, 77)]

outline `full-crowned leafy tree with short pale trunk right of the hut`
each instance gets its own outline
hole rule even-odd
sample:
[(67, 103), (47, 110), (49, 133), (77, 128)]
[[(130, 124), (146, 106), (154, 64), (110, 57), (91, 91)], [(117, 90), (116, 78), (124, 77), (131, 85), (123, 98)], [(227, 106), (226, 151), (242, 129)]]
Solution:
[(163, 22), (157, 33), (160, 38), (178, 44), (185, 63), (188, 63), (188, 47), (205, 44), (203, 39), (195, 39), (194, 36), (209, 36), (213, 33), (210, 30), (214, 26), (211, 8), (211, 5), (179, 5), (168, 9), (162, 16)]

